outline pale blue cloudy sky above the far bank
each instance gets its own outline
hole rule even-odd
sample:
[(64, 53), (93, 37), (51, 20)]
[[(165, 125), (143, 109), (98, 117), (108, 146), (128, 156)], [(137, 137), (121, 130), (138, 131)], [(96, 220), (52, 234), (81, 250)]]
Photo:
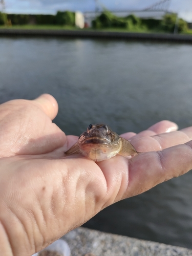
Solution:
[[(94, 11), (95, 2), (109, 10), (142, 10), (160, 0), (4, 0), (7, 13), (55, 14), (60, 10)], [(171, 0), (169, 11), (192, 22), (192, 0)], [(1, 7), (0, 7), (1, 11)]]

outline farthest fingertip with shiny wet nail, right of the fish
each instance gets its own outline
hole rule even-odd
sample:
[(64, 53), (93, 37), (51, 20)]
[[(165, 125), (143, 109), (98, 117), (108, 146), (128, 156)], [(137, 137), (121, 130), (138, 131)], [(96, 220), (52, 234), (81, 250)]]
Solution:
[(178, 125), (176, 123), (168, 121), (168, 120), (163, 120), (163, 121), (160, 121), (160, 122), (152, 125), (147, 130), (138, 133), (136, 137), (141, 138), (144, 136), (153, 136), (156, 134), (169, 133), (169, 132), (174, 132), (177, 130), (178, 130)]

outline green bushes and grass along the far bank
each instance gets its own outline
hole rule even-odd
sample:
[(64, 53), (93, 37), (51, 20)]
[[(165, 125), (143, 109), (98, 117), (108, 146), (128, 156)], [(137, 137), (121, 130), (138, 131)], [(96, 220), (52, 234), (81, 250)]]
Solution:
[[(1, 28), (15, 29), (78, 29), (75, 27), (75, 13), (60, 12), (56, 15), (27, 15), (0, 13)], [(95, 20), (89, 30), (145, 32), (145, 33), (191, 33), (187, 22), (178, 18), (176, 13), (167, 13), (162, 19), (139, 18), (133, 14), (117, 17), (108, 10), (104, 10)]]

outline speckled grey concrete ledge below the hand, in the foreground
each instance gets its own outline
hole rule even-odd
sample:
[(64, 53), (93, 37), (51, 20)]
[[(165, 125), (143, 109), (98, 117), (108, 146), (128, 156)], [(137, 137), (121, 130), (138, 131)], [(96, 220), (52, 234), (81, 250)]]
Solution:
[(79, 227), (63, 236), (72, 256), (191, 256), (192, 250)]

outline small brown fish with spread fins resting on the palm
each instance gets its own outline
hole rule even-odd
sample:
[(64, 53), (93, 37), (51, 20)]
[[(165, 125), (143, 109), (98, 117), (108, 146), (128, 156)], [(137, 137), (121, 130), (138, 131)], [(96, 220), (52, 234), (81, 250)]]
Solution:
[(128, 140), (113, 132), (108, 125), (90, 124), (87, 131), (79, 136), (78, 141), (65, 154), (82, 154), (100, 162), (117, 154), (126, 157), (137, 155), (138, 152)]

